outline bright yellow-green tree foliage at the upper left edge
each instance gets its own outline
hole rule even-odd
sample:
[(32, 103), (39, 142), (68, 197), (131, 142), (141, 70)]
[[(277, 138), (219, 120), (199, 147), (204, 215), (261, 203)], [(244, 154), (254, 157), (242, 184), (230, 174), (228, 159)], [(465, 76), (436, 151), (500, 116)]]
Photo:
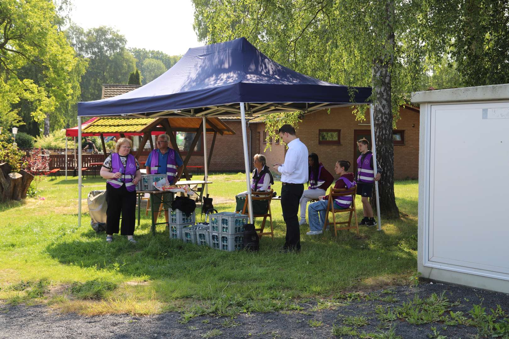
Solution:
[(0, 2), (0, 126), (22, 125), (21, 108), (49, 126), (77, 98), (85, 65), (58, 29), (62, 20), (50, 0)]

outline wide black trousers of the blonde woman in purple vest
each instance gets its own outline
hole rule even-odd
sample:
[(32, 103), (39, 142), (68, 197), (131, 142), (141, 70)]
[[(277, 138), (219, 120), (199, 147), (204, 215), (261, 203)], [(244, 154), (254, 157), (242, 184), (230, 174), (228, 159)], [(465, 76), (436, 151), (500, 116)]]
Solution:
[(125, 185), (116, 189), (106, 184), (106, 234), (119, 233), (122, 213), (121, 235), (133, 235), (136, 221), (136, 191), (129, 192)]

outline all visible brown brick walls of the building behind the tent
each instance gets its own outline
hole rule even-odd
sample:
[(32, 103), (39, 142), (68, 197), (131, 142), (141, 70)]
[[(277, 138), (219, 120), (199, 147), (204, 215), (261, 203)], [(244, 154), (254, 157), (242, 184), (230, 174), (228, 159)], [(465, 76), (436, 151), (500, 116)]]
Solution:
[[(397, 122), (396, 131), (404, 133), (404, 144), (394, 145), (394, 178), (417, 178), (419, 159), (419, 113), (402, 108), (401, 119)], [(209, 171), (244, 171), (244, 153), (242, 147), (242, 128), (240, 119), (224, 119), (224, 122), (235, 131), (235, 135), (217, 135), (214, 152)], [(362, 124), (362, 125), (359, 125)], [(320, 129), (341, 130), (340, 144), (319, 144), (318, 131)], [(249, 164), (252, 170), (252, 157), (261, 153), (267, 158), (267, 164), (283, 163), (286, 147), (282, 144), (271, 143), (271, 149), (265, 151), (265, 124), (248, 123), (247, 142), (249, 150)], [(297, 136), (307, 146), (309, 152), (317, 153), (325, 168), (334, 174), (337, 160), (348, 160), (352, 163), (350, 171), (354, 171), (357, 159), (355, 131), (370, 133), (369, 117), (366, 121), (356, 121), (350, 107), (337, 107), (330, 110), (316, 111), (303, 116), (297, 129)], [(207, 133), (207, 149), (210, 150), (213, 134)], [(355, 147), (355, 148), (354, 148)], [(185, 158), (185, 155), (184, 155)], [(146, 157), (145, 157), (146, 159)], [(203, 166), (203, 155), (193, 155), (188, 165)], [(190, 171), (194, 173), (194, 170)]]

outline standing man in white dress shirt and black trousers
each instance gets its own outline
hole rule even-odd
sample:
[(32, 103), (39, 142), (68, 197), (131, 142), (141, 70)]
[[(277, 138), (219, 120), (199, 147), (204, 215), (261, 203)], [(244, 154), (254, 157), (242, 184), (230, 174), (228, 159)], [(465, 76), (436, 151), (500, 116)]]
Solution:
[(279, 137), (288, 145), (284, 164), (275, 164), (273, 169), (281, 173), (281, 208), (287, 225), (286, 242), (282, 252), (300, 251), (299, 200), (308, 179), (307, 147), (295, 136), (291, 125), (279, 129)]

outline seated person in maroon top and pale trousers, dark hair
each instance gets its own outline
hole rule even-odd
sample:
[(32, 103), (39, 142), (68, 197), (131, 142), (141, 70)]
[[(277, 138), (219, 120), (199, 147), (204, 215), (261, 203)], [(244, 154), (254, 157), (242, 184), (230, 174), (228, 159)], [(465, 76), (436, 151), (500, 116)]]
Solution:
[(307, 157), (307, 164), (309, 165), (309, 178), (307, 181), (309, 186), (307, 187), (307, 190), (304, 190), (300, 197), (299, 225), (304, 225), (306, 223), (307, 202), (325, 195), (332, 181), (334, 181), (332, 174), (330, 174), (322, 163), (318, 161), (316, 153), (311, 153), (309, 157)]

